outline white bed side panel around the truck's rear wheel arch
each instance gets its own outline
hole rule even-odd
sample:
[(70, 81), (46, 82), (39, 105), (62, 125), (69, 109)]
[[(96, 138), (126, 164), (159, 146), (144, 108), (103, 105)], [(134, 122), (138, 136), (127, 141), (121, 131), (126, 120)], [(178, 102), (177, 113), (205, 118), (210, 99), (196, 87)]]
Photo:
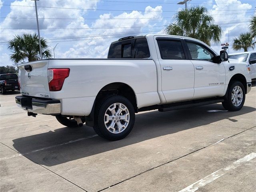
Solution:
[(98, 92), (114, 82), (134, 90), (138, 108), (160, 103), (153, 60), (50, 60), (48, 68), (70, 68), (62, 90), (51, 92), (62, 100), (62, 114), (90, 114)]

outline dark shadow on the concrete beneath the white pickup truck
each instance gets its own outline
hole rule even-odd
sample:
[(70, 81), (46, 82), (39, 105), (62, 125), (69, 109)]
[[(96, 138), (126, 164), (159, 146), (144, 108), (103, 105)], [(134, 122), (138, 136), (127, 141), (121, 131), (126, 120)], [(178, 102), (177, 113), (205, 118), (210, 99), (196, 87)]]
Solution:
[[(13, 140), (13, 146), (38, 164), (54, 166), (224, 119), (235, 124), (238, 121), (236, 116), (253, 111), (255, 108), (244, 106), (240, 111), (227, 112), (221, 104), (212, 104), (164, 113), (145, 112), (136, 115), (134, 129), (123, 140), (104, 140), (99, 136), (93, 136), (96, 134), (93, 128), (83, 126), (78, 129), (59, 128), (17, 138)], [(225, 128), (227, 127), (223, 126), (223, 129)]]

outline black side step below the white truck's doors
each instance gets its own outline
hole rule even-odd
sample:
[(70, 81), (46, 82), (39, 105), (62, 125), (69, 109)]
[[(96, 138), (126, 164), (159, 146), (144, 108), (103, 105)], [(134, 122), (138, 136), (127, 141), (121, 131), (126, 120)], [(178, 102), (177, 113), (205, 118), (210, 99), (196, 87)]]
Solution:
[(186, 102), (177, 102), (177, 103), (160, 105), (158, 106), (158, 111), (166, 112), (166, 111), (172, 111), (176, 109), (184, 109), (184, 108), (209, 105), (209, 104), (220, 103), (220, 102), (224, 102), (224, 99), (217, 99), (217, 100), (202, 99), (202, 100), (192, 100), (192, 101), (186, 101)]

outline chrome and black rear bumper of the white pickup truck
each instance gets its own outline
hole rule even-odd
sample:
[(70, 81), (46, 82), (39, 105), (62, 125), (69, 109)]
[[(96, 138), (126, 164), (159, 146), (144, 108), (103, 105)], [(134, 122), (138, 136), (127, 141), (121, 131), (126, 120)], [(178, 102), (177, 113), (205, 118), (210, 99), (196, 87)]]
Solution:
[(16, 96), (18, 107), (36, 114), (57, 115), (60, 114), (59, 100), (41, 100), (26, 96)]

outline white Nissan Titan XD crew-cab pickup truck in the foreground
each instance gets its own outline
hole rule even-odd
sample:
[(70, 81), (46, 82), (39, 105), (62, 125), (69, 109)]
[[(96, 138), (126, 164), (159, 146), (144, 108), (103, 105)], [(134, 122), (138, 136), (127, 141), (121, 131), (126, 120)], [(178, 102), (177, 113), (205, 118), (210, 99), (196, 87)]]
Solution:
[(20, 64), (19, 107), (68, 127), (93, 126), (108, 140), (126, 137), (135, 113), (222, 102), (237, 111), (251, 90), (246, 64), (203, 42), (148, 34), (112, 42), (107, 59), (46, 59)]

